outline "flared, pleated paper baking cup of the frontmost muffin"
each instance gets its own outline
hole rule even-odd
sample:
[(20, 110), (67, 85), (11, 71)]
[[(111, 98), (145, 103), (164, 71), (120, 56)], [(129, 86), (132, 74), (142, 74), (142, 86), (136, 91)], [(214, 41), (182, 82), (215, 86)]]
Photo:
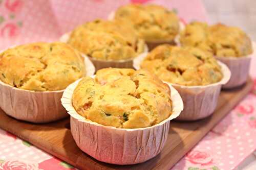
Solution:
[(67, 87), (61, 103), (71, 115), (71, 133), (83, 152), (99, 161), (120, 165), (141, 163), (161, 152), (170, 120), (183, 110), (182, 99), (176, 89), (170, 86), (173, 110), (167, 119), (152, 127), (121, 129), (97, 124), (76, 112), (72, 106), (72, 95), (79, 81)]

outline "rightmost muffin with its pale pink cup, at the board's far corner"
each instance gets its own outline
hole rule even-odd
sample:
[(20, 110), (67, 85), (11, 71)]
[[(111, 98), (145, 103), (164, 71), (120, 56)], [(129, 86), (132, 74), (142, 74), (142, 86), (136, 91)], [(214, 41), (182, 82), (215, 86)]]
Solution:
[(195, 46), (210, 52), (229, 67), (231, 78), (223, 88), (238, 87), (246, 82), (252, 44), (241, 29), (222, 24), (208, 26), (206, 23), (192, 22), (182, 31), (180, 42), (182, 46)]

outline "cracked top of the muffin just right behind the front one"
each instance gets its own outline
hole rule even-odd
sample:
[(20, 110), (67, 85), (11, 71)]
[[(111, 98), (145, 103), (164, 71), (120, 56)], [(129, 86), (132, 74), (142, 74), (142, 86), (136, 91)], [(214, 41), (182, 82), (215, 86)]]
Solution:
[(159, 45), (142, 61), (159, 79), (185, 86), (208, 85), (219, 82), (221, 66), (211, 53), (195, 47)]

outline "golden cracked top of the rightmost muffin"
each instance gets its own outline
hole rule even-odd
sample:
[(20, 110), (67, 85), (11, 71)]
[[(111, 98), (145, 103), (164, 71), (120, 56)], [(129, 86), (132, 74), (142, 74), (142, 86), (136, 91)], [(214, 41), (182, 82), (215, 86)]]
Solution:
[(180, 42), (219, 57), (243, 57), (252, 53), (251, 40), (241, 29), (221, 23), (208, 26), (203, 22), (191, 22), (181, 32)]

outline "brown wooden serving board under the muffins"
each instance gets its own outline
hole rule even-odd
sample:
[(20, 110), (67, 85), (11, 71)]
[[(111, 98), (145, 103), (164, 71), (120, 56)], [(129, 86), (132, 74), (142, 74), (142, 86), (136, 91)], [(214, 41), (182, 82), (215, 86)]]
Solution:
[(217, 109), (210, 117), (195, 122), (171, 122), (163, 151), (155, 158), (135, 165), (103, 163), (83, 153), (72, 138), (69, 118), (50, 124), (31, 124), (9, 117), (0, 109), (0, 128), (79, 169), (170, 169), (244, 98), (252, 85), (252, 80), (248, 79), (240, 88), (222, 91)]

